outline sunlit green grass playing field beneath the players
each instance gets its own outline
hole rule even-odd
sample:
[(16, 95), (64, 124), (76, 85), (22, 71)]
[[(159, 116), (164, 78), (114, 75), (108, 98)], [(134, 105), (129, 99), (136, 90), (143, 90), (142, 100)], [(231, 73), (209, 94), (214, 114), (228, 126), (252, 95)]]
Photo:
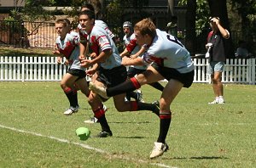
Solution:
[[(160, 92), (143, 86), (146, 102)], [(148, 111), (119, 113), (112, 99), (107, 119), (113, 137), (80, 141), (75, 130), (92, 116), (81, 109), (65, 116), (67, 98), (58, 82), (0, 82), (0, 167), (256, 167), (256, 87), (224, 85), (226, 104), (212, 104), (212, 88), (193, 84), (172, 104), (170, 150), (149, 160), (159, 119)]]

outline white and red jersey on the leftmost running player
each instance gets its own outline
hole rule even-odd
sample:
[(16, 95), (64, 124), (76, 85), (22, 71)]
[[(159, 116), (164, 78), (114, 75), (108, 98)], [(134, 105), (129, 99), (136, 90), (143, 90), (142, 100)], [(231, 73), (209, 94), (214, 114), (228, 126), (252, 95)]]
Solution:
[(68, 59), (70, 69), (85, 70), (80, 67), (79, 41), (79, 33), (71, 31), (67, 33), (64, 40), (61, 40), (61, 36), (57, 36), (55, 43), (58, 51)]

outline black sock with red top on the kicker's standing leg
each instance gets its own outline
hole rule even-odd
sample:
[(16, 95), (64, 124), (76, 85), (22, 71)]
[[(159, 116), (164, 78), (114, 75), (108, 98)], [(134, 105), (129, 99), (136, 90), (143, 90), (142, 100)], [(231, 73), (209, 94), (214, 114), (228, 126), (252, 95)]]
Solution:
[(171, 126), (172, 113), (160, 112), (160, 133), (157, 139), (157, 143), (166, 143), (166, 136)]

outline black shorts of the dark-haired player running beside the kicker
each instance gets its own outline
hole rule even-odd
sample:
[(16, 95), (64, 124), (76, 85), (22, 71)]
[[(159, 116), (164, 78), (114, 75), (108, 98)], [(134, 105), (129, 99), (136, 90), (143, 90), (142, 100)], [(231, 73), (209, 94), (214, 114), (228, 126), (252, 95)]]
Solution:
[(98, 73), (96, 80), (101, 81), (107, 87), (115, 87), (127, 79), (126, 68), (123, 65), (110, 70), (106, 70), (101, 67), (98, 70)]

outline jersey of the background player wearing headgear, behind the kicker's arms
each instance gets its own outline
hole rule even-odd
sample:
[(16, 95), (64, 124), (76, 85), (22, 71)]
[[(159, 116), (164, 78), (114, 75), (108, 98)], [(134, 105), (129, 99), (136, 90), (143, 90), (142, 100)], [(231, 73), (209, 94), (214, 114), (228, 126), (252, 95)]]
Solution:
[[(137, 53), (141, 49), (137, 45), (137, 39), (134, 33), (131, 36), (125, 35), (123, 37), (123, 41), (125, 43), (125, 48), (129, 53), (131, 53), (131, 55)], [(148, 66), (147, 65), (131, 65), (131, 67), (134, 67), (139, 70), (146, 70)]]

